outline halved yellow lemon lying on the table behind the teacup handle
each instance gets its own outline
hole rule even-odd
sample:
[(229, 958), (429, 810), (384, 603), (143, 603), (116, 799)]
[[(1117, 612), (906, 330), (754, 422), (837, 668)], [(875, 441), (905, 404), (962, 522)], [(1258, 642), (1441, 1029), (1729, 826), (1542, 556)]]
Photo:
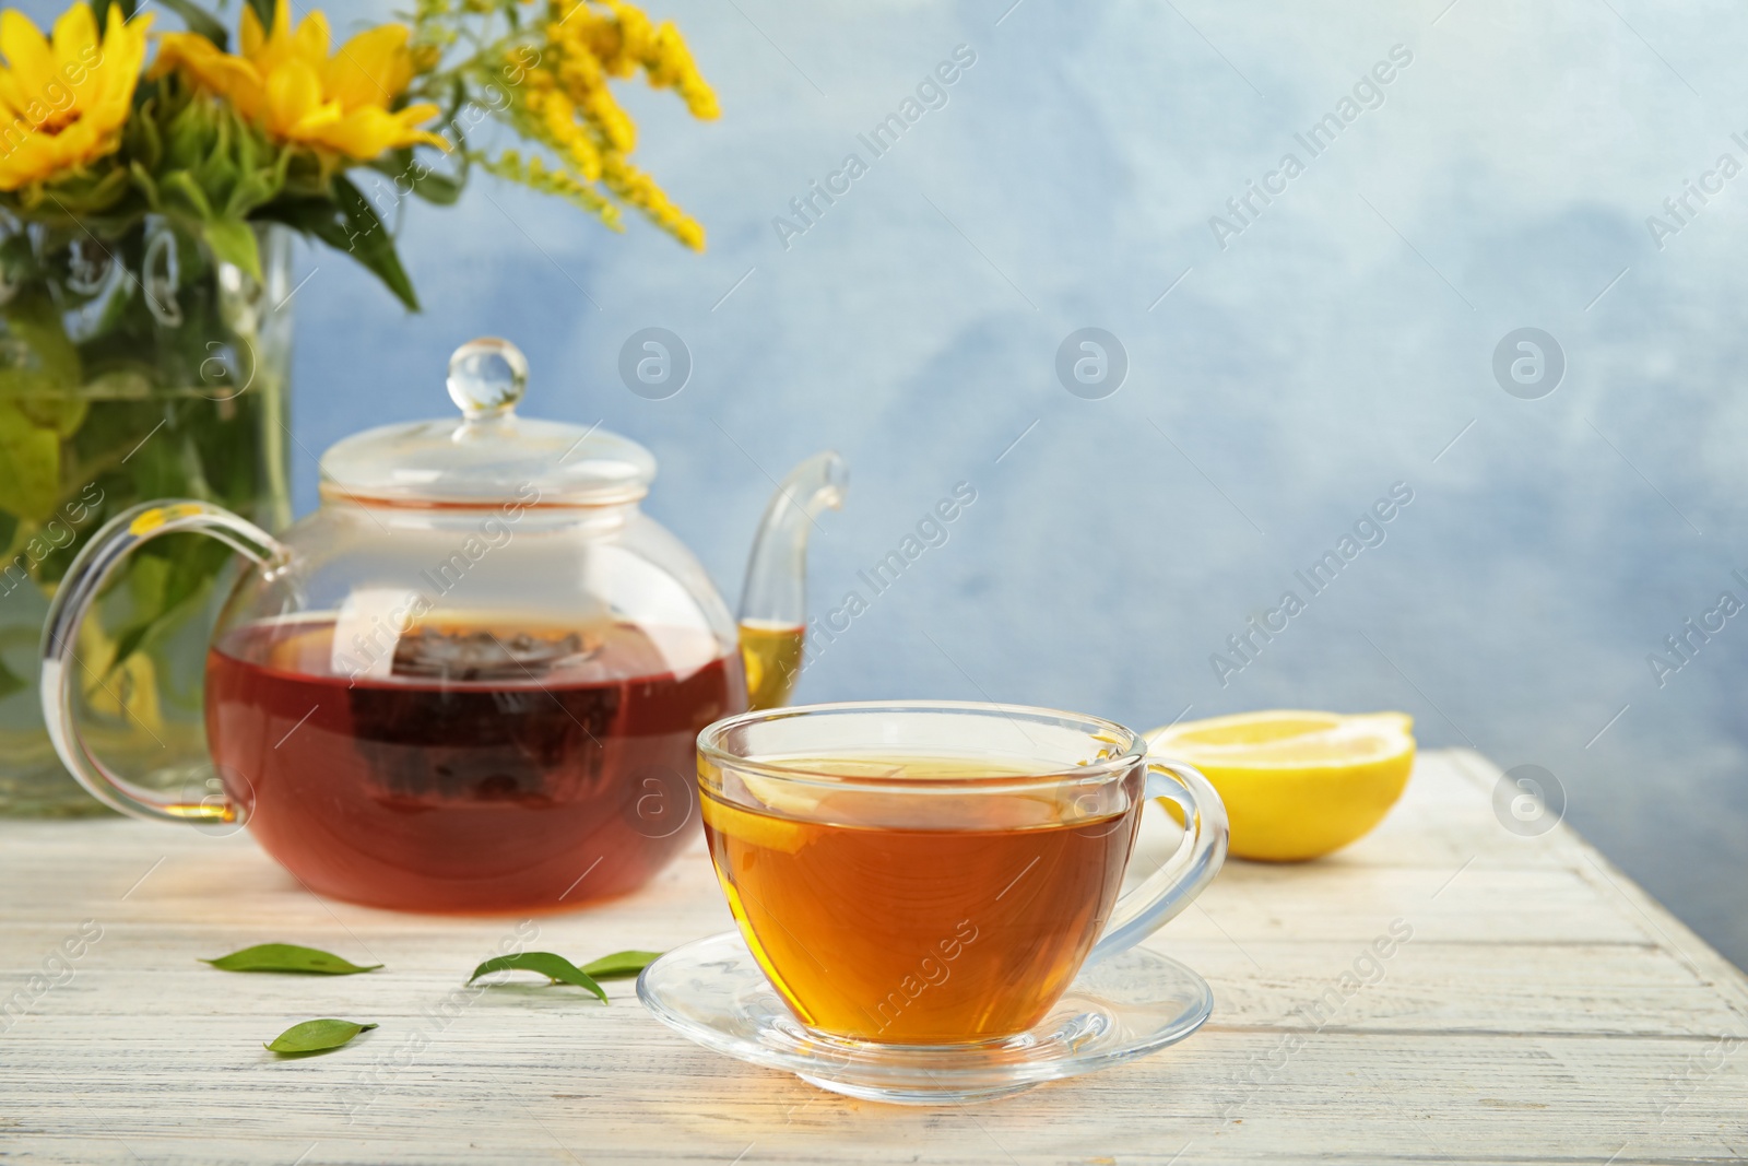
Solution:
[(1152, 755), (1201, 769), (1220, 792), (1239, 858), (1299, 862), (1358, 841), (1414, 767), (1407, 713), (1236, 713), (1154, 729)]

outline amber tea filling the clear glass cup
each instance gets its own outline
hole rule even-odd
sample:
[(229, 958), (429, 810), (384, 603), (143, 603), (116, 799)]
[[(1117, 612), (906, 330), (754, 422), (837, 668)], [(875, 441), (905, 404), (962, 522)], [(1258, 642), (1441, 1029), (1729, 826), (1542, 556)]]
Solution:
[[(996, 776), (954, 759), (818, 767)], [(956, 829), (930, 830), (783, 818), (704, 795), (734, 916), (802, 1023), (933, 1044), (1026, 1030), (1056, 1002), (1117, 900), (1138, 815), (1026, 823), (984, 801)]]

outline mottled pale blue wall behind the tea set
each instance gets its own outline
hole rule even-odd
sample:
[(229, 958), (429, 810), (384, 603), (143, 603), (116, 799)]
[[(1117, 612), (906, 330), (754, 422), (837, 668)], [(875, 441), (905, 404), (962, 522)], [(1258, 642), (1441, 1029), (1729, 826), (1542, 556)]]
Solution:
[[(299, 509), (315, 453), (444, 414), (449, 350), (503, 334), (533, 365), (528, 413), (656, 451), (649, 509), (731, 601), (771, 477), (816, 449), (848, 456), (853, 488), (822, 519), (815, 614), (972, 482), (947, 544), (801, 698), (995, 698), (1138, 727), (1402, 708), (1426, 746), (1543, 766), (1582, 832), (1748, 961), (1748, 617), (1662, 687), (1647, 663), (1720, 591), (1748, 600), (1731, 579), (1748, 573), (1748, 175), (1690, 199), (1662, 246), (1645, 222), (1720, 154), (1748, 164), (1731, 138), (1748, 138), (1748, 17), (1010, 3), (661, 0), (724, 119), (628, 100), (640, 161), (710, 229), (703, 257), (489, 180), (406, 215), (421, 316), (304, 252)], [(956, 45), (975, 65), (947, 105), (872, 159), (857, 135)], [(1311, 157), (1294, 135), (1393, 45), (1412, 63)], [(869, 173), (785, 246), (773, 217), (850, 150)], [(1285, 152), (1304, 173), (1222, 246), (1210, 217)], [(617, 374), (650, 325), (694, 360), (668, 400)], [(1101, 400), (1054, 369), (1089, 325), (1129, 360)], [(1493, 372), (1519, 327), (1564, 353), (1538, 400)], [(1412, 503), (1386, 540), (1222, 685), (1225, 636), (1393, 482)]]

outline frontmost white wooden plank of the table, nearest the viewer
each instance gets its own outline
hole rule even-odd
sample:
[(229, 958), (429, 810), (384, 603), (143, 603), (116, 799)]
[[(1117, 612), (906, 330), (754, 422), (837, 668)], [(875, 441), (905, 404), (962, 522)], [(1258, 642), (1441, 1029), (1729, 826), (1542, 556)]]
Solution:
[[(220, 1021), (196, 1026), (210, 1045)], [(580, 1026), (573, 1026), (580, 1028)], [(839, 1098), (778, 1073), (734, 1065), (659, 1035), (645, 1049), (566, 1047), (551, 1028), (505, 1028), (468, 1017), (439, 1056), (388, 1080), (358, 1110), (341, 1093), (351, 1075), (336, 1058), (250, 1066), (191, 1051), (175, 1089), (142, 1080), (133, 1056), (163, 1061), (159, 1042), (100, 1042), (112, 1059), (91, 1072), (84, 1110), (61, 1080), (12, 1094), (10, 1105), (110, 1131), (142, 1157), (187, 1149), (194, 1119), (224, 1140), (225, 1154), (260, 1154), (259, 1133), (290, 1161), (474, 1161), (521, 1156), (579, 1161), (923, 1161), (1054, 1163), (1117, 1157), (1166, 1161), (1185, 1143), (1187, 1161), (1280, 1161), (1285, 1152), (1334, 1161), (1741, 1161), (1739, 1086), (1699, 1079), (1687, 1042), (1542, 1038), (1503, 1052), (1493, 1037), (1451, 1037), (1430, 1054), (1425, 1038), (1323, 1037), (1281, 1070), (1257, 1068), (1253, 1033), (1210, 1031), (1145, 1065), (1099, 1082), (1061, 1082), (995, 1107), (909, 1110)], [(514, 1075), (503, 1045), (538, 1051)], [(87, 1052), (79, 1049), (79, 1052)], [(96, 1054), (98, 1049), (89, 1052)], [(1260, 1084), (1245, 1086), (1257, 1072)], [(1638, 1082), (1638, 1096), (1610, 1082)], [(72, 1110), (72, 1112), (68, 1112)], [(434, 1129), (434, 1126), (437, 1129)], [(440, 1129), (442, 1136), (432, 1135)], [(54, 1142), (40, 1126), (14, 1128), (42, 1154)], [(1680, 1145), (1676, 1145), (1680, 1143)], [(170, 1154), (170, 1147), (177, 1149)], [(350, 1147), (350, 1149), (348, 1149)], [(1638, 1149), (1634, 1149), (1638, 1147)], [(1732, 1157), (1734, 1156), (1734, 1157)], [(86, 1159), (77, 1159), (86, 1161)], [(222, 1161), (222, 1156), (220, 1156)], [(344, 1161), (344, 1159), (343, 1159)], [(554, 1159), (556, 1161), (556, 1159)]]

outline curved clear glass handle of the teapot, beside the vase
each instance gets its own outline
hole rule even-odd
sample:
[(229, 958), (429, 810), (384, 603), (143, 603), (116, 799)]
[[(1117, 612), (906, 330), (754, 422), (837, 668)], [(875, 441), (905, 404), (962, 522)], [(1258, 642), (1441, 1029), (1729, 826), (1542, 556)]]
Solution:
[(80, 624), (103, 584), (135, 547), (175, 531), (210, 535), (264, 566), (290, 559), (290, 552), (267, 531), (205, 502), (147, 502), (117, 514), (79, 551), (49, 605), (42, 628), (42, 718), (61, 764), (105, 806), (152, 822), (239, 823), (246, 806), (236, 802), (229, 790), (199, 802), (166, 799), (105, 766), (73, 724), (73, 668), (91, 673), (75, 650)]

